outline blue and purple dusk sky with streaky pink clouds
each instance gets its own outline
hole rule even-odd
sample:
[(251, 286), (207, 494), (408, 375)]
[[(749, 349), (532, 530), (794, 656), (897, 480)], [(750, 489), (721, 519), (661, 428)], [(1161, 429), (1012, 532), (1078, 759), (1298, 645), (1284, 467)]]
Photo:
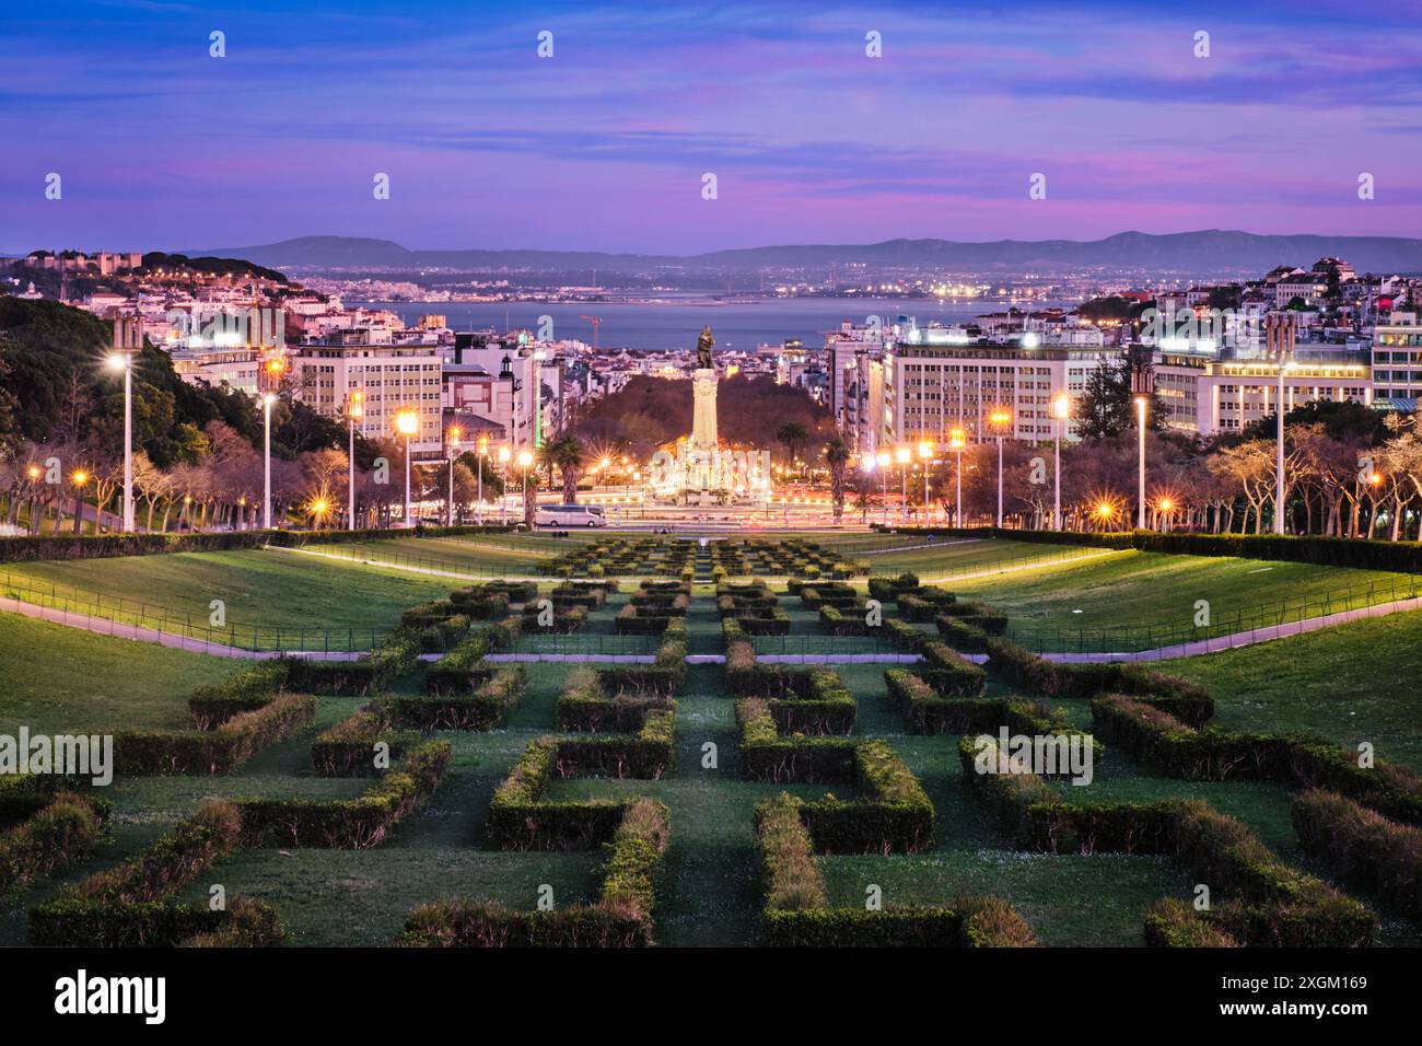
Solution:
[(9, 4), (0, 250), (1422, 233), (1416, 3), (284, 7)]

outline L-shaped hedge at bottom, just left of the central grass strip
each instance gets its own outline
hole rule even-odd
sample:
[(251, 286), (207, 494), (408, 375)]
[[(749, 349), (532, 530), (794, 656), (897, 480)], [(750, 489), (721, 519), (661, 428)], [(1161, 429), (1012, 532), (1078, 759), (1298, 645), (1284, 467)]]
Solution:
[(483, 901), (439, 901), (411, 912), (405, 948), (634, 948), (653, 944), (657, 878), (667, 851), (667, 808), (636, 798), (607, 844), (596, 904), (509, 911)]

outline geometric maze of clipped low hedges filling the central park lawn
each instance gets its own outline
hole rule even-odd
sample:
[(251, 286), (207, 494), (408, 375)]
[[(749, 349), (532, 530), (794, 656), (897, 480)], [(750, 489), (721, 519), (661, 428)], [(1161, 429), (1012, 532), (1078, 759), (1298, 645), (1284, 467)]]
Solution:
[[(336, 918), (408, 861), (361, 939), (419, 948), (1037, 946), (1102, 914), (1111, 944), (1354, 948), (1422, 921), (1409, 767), (1221, 729), (1233, 694), (1034, 655), (990, 602), (860, 568), (599, 535), (536, 581), (432, 589), (360, 657), (183, 686), (182, 722), (114, 734), (117, 798), (0, 776), (0, 898), (30, 944), (112, 946), (326, 944), (297, 861), (343, 884), (311, 902)], [(574, 630), (648, 639), (539, 642)], [(107, 858), (154, 794), (188, 798)], [(1125, 901), (1092, 878), (1118, 872)]]

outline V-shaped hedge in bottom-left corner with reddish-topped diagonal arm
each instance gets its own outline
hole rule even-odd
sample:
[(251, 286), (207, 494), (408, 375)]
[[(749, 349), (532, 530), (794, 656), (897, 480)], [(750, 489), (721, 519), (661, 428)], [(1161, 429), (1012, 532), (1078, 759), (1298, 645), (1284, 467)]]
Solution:
[[(229, 898), (226, 911), (183, 904), (175, 895), (240, 842), (242, 817), (210, 801), (138, 857), (65, 887), (30, 909), (30, 944), (41, 948), (172, 946), (228, 932), (229, 944), (274, 945), (280, 924), (267, 905)], [(262, 912), (260, 918), (253, 916)], [(240, 921), (237, 915), (240, 914)], [(202, 939), (193, 941), (202, 944)]]

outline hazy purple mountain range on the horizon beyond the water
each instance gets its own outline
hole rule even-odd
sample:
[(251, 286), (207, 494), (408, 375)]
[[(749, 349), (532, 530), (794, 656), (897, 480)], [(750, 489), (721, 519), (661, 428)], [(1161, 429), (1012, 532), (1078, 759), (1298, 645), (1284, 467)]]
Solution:
[(1422, 272), (1422, 239), (1399, 236), (1260, 236), (1202, 229), (1152, 235), (1121, 232), (1096, 241), (890, 239), (882, 243), (806, 243), (715, 250), (704, 255), (630, 255), (593, 250), (411, 250), (388, 239), (300, 236), (280, 243), (182, 250), (189, 256), (242, 258), (273, 269), (469, 272), (542, 269), (614, 272), (754, 272), (764, 268), (828, 269), (830, 263), (940, 266), (960, 270), (1108, 266), (1189, 273), (1258, 273), (1277, 265), (1308, 268), (1320, 258), (1351, 262), (1358, 272)]

